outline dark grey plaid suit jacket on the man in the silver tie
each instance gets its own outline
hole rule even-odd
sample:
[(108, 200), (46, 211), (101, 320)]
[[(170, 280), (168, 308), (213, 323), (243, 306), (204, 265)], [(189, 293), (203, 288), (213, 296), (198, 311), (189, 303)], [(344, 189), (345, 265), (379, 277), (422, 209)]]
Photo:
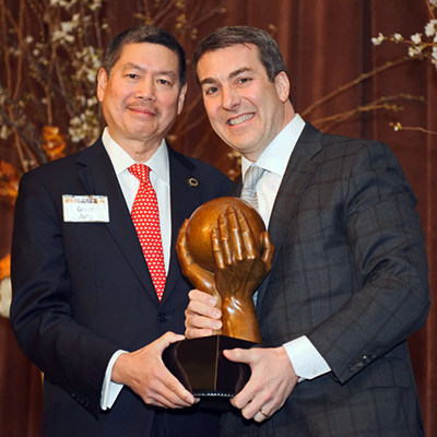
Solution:
[(406, 345), (429, 307), (415, 204), (386, 145), (305, 127), (274, 202), (257, 312), (267, 345), (307, 335), (332, 371), (298, 383), (261, 425), (228, 414), (224, 436), (423, 435)]

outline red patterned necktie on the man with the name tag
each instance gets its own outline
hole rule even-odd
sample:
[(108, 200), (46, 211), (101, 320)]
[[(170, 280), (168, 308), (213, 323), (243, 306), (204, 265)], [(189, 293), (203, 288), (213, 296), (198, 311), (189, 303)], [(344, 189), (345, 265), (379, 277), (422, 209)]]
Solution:
[(129, 167), (129, 172), (140, 180), (131, 211), (132, 222), (155, 285), (157, 298), (161, 300), (166, 277), (156, 193), (149, 179), (150, 168), (146, 165), (133, 164)]

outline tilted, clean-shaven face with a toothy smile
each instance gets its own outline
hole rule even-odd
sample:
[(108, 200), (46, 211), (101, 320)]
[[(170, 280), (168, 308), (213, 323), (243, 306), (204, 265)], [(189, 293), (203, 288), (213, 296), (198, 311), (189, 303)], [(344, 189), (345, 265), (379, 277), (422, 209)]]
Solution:
[(270, 82), (252, 44), (206, 51), (197, 73), (212, 128), (250, 161), (257, 161), (294, 117), (286, 73)]

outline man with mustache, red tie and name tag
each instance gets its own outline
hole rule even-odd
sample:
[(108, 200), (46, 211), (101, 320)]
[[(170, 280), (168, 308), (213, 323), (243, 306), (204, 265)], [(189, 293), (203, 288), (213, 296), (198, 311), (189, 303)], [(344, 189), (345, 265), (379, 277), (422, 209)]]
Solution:
[[(184, 339), (190, 288), (174, 250), (178, 229), (197, 206), (233, 189), (164, 140), (186, 88), (185, 54), (173, 36), (150, 26), (123, 32), (98, 73), (102, 138), (21, 179), (11, 322), (44, 373), (43, 436), (217, 434), (218, 416), (198, 411), (162, 362), (164, 349)], [(138, 163), (150, 168), (157, 198), (162, 296), (130, 215)]]

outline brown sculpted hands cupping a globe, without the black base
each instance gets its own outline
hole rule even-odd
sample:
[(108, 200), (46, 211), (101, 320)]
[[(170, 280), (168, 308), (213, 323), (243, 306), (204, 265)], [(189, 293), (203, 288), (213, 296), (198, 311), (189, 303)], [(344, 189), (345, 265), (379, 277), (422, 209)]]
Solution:
[(261, 342), (252, 295), (272, 267), (274, 246), (256, 210), (238, 198), (204, 203), (176, 245), (182, 273), (217, 299), (224, 335)]

